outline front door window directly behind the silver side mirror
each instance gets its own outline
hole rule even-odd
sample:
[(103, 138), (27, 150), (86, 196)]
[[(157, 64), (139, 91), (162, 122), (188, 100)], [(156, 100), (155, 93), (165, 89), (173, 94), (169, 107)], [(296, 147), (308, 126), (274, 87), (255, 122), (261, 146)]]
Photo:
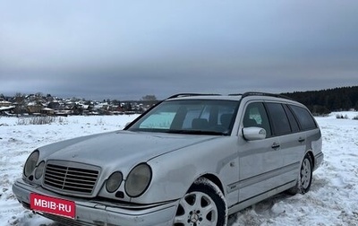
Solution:
[(252, 102), (245, 109), (243, 127), (257, 126), (266, 130), (266, 137), (271, 136), (271, 127), (266, 109), (261, 102)]

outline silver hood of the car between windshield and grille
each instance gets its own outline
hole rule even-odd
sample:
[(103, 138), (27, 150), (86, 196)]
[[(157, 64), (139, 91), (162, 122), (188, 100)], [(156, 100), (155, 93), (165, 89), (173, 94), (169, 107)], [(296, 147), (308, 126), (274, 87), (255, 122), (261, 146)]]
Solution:
[(208, 135), (169, 135), (116, 131), (83, 136), (39, 148), (42, 159), (82, 162), (110, 169), (123, 169), (149, 161), (166, 152), (215, 139)]

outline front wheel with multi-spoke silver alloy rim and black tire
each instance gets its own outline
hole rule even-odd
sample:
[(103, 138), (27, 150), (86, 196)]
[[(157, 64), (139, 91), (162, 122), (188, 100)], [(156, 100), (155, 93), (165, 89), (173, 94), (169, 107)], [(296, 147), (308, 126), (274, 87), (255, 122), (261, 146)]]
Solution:
[(226, 222), (225, 196), (209, 179), (199, 178), (180, 200), (174, 226), (225, 226)]

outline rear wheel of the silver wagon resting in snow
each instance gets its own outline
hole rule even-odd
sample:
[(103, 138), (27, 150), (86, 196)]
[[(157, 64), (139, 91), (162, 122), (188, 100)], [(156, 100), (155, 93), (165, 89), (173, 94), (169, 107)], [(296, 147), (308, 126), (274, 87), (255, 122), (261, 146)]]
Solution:
[(306, 154), (303, 158), (297, 184), (294, 187), (288, 189), (287, 192), (291, 195), (295, 195), (298, 193), (300, 194), (307, 193), (311, 188), (312, 171), (313, 171), (313, 165), (312, 165), (311, 155)]

